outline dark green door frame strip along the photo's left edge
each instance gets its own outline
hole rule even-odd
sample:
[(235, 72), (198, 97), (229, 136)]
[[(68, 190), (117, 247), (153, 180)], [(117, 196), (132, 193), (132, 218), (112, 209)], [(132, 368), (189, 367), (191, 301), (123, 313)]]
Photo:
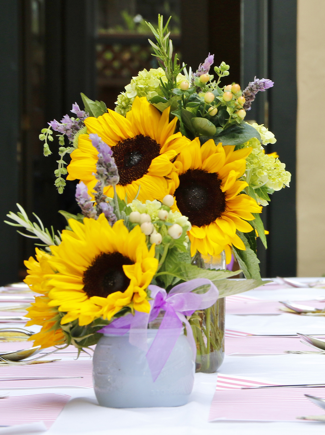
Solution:
[(20, 78), (18, 0), (0, 0), (0, 285), (18, 280), (18, 234), (3, 223), (18, 202)]

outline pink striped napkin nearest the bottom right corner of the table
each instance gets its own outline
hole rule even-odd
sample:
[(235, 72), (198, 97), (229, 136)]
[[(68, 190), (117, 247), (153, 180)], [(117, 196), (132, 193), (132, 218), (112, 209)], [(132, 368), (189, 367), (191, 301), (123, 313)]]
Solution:
[(299, 422), (302, 420), (296, 420), (296, 417), (323, 414), (321, 408), (314, 405), (305, 394), (325, 398), (325, 388), (216, 390), (210, 408), (209, 422), (216, 420)]

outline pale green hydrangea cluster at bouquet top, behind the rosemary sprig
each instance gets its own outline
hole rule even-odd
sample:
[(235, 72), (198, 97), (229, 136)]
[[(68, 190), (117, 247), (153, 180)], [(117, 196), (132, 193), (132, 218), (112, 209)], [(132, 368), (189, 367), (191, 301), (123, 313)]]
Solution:
[[(122, 92), (117, 97), (115, 112), (125, 116), (125, 114), (131, 110), (132, 103), (136, 96), (147, 97), (148, 100), (156, 95), (163, 97), (160, 88), (160, 79), (163, 83), (167, 82), (165, 72), (160, 67), (157, 69), (151, 68), (149, 71), (146, 69), (140, 71), (137, 77), (132, 77), (131, 83), (125, 86), (125, 92)], [(177, 87), (179, 87), (184, 80), (186, 80), (186, 77), (182, 74), (178, 74)]]

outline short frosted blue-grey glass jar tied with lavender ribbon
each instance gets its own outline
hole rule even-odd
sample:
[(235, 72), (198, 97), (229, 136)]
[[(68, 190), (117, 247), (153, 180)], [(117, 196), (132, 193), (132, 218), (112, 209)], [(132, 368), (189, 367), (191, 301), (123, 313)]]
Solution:
[[(157, 329), (147, 330), (148, 348)], [(195, 361), (182, 333), (154, 382), (146, 352), (129, 343), (129, 334), (104, 334), (93, 358), (95, 395), (101, 406), (148, 408), (188, 402), (194, 384)]]

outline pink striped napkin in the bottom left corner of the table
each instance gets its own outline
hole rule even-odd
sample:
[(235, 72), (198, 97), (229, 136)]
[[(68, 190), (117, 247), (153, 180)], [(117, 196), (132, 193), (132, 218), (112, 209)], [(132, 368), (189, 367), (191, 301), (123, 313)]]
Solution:
[(70, 396), (37, 394), (14, 396), (0, 400), (0, 425), (11, 426), (43, 421), (49, 429)]

